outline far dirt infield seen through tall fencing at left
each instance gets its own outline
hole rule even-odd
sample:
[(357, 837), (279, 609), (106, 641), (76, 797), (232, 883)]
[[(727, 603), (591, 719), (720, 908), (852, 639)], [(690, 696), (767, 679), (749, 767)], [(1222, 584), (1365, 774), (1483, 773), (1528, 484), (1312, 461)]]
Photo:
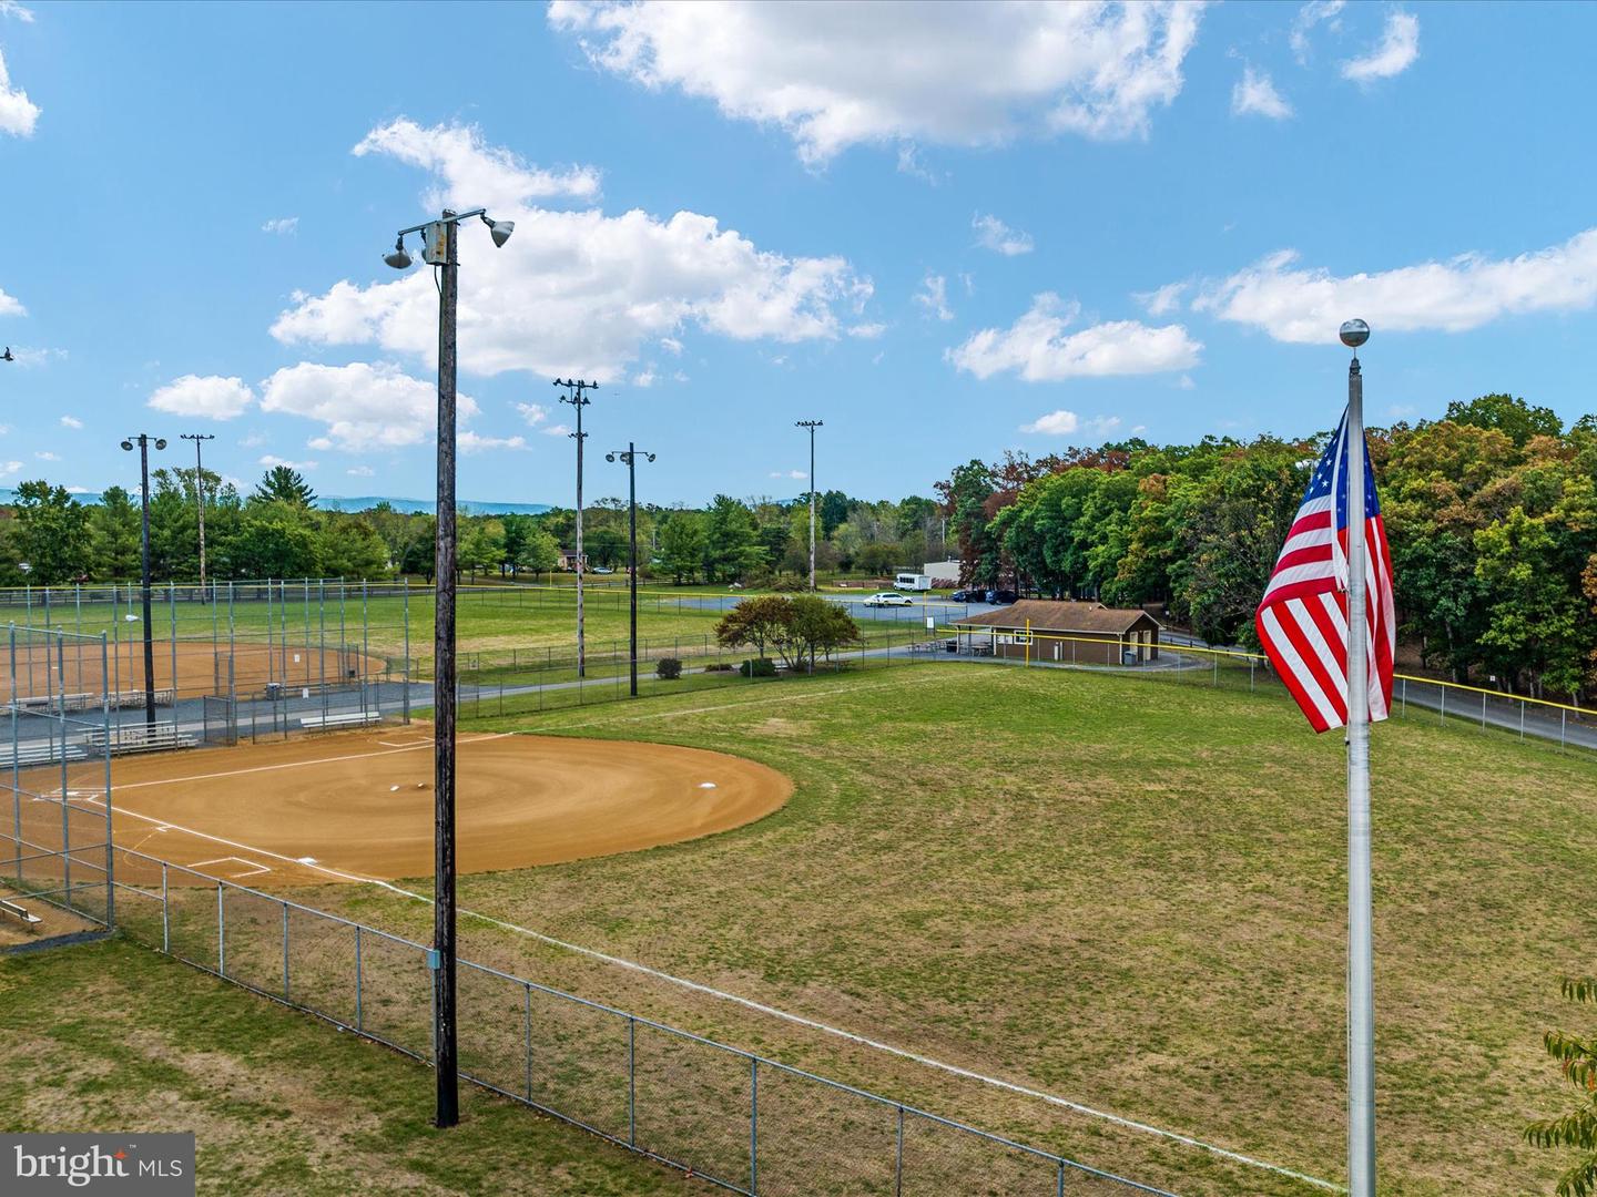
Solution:
[[(16, 694), (22, 699), (45, 696), (99, 694), (102, 689), (129, 693), (144, 688), (144, 645), (123, 640), (112, 646), (110, 677), (102, 681), (97, 645), (64, 645), (59, 653), (45, 645), (18, 645)], [(171, 689), (174, 677), (172, 642), (155, 642), (155, 688)], [(358, 646), (337, 645), (235, 645), (233, 688), (254, 693), (268, 681), (289, 686), (329, 685), (382, 677), (386, 662), (363, 656)], [(0, 662), (0, 702), (11, 701), (10, 662)], [(64, 678), (64, 680), (62, 680)], [(176, 653), (177, 696), (225, 694), (228, 686), (227, 642), (179, 640)]]

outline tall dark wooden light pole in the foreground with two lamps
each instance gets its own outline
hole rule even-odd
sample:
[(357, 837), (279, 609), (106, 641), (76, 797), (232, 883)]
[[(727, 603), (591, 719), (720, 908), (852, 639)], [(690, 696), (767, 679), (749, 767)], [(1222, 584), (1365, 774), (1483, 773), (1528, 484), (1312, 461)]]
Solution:
[[(455, 308), (460, 295), (460, 222), (481, 217), (495, 246), (516, 228), (490, 220), (481, 207), (401, 228), (383, 254), (394, 270), (412, 263), (406, 235), (422, 235), (422, 260), (438, 268), (438, 541), (433, 557), (433, 1124), (460, 1122), (460, 1052), (455, 1034)], [(407, 683), (409, 693), (409, 683)]]

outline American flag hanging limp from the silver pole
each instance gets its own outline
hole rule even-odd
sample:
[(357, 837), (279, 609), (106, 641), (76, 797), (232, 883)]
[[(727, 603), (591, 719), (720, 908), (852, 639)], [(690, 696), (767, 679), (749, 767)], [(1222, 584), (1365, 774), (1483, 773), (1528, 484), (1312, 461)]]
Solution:
[[(1370, 629), (1370, 720), (1383, 720), (1391, 710), (1397, 619), (1393, 610), (1393, 562), (1369, 460), (1365, 445), (1364, 610)], [(1348, 721), (1346, 412), (1314, 466), (1303, 504), (1254, 614), (1254, 626), (1270, 664), (1314, 731), (1343, 726)]]

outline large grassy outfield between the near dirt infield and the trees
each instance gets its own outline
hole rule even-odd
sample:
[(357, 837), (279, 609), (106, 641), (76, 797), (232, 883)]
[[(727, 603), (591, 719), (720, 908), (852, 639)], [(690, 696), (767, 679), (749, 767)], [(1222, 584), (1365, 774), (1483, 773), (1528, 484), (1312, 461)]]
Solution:
[[(783, 769), (720, 836), (465, 878), (465, 907), (1292, 1168), (1343, 1173), (1343, 749), (1203, 675), (920, 666), (471, 723)], [(1244, 683), (1246, 685), (1246, 683)], [(1373, 736), (1383, 1192), (1528, 1194), (1589, 972), (1589, 758)], [(425, 907), (310, 899), (425, 934)], [(1182, 1194), (1311, 1192), (481, 922), (463, 951)]]

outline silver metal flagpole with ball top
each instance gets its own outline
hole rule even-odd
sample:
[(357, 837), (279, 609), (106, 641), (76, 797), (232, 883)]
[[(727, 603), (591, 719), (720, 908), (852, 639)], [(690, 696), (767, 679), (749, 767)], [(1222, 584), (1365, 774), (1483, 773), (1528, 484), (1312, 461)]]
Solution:
[(1348, 365), (1348, 1192), (1375, 1197), (1375, 980), (1370, 900), (1370, 678), (1364, 549), (1364, 321), (1341, 326)]

